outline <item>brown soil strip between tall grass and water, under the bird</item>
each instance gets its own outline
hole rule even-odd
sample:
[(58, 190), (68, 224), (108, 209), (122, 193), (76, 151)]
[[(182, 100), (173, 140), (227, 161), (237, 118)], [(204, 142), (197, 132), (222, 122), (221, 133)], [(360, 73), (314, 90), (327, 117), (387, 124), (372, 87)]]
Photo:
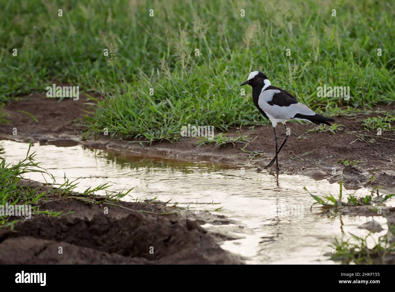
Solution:
[[(44, 99), (42, 95), (31, 95), (26, 99), (13, 102), (4, 107), (9, 114), (11, 123), (0, 128), (0, 138), (21, 142), (34, 141), (47, 142), (57, 146), (81, 144), (89, 148), (101, 148), (113, 152), (126, 152), (141, 156), (166, 156), (186, 161), (211, 161), (216, 163), (233, 164), (243, 166), (248, 163), (248, 154), (242, 152), (237, 144), (236, 147), (228, 145), (214, 148), (213, 145), (196, 147), (196, 138), (187, 138), (175, 143), (159, 142), (149, 147), (141, 147), (138, 143), (126, 144), (119, 140), (109, 140), (107, 136), (101, 136), (97, 140), (83, 140), (82, 127), (75, 123), (81, 118), (82, 110), (87, 110), (85, 104), (87, 98), (81, 96), (78, 101), (64, 99), (58, 102), (54, 99)], [(380, 106), (375, 110), (392, 110), (393, 107)], [(18, 112), (23, 110), (30, 112), (37, 119), (35, 123), (28, 115)], [(308, 129), (315, 125), (310, 123), (288, 123), (291, 129), (291, 137), (284, 145), (279, 154), (280, 172), (297, 173), (317, 179), (327, 178), (337, 182), (340, 179), (348, 187), (356, 186), (394, 186), (395, 185), (395, 134), (392, 131), (384, 132), (382, 136), (374, 136), (375, 133), (360, 132), (365, 140), (374, 139), (373, 143), (355, 140), (357, 137), (352, 131), (363, 131), (362, 120), (368, 116), (378, 114), (357, 114), (355, 116), (334, 117), (337, 124), (344, 125), (345, 129), (336, 135), (329, 132), (310, 132), (297, 139)], [(17, 128), (18, 135), (12, 135), (13, 128)], [(242, 133), (246, 133), (243, 129)], [(232, 131), (229, 135), (236, 135)], [(279, 143), (285, 138), (282, 125), (277, 127)], [(273, 128), (271, 126), (255, 127), (248, 135), (258, 136), (248, 144), (248, 151), (263, 151), (267, 155), (262, 160), (252, 161), (252, 165), (264, 166), (274, 155)], [(393, 140), (386, 140), (393, 139)], [(241, 158), (245, 157), (245, 158)], [(335, 164), (340, 159), (365, 161), (353, 167), (344, 167)], [(333, 175), (333, 167), (337, 174)], [(271, 167), (273, 169), (273, 167)], [(371, 182), (371, 176), (374, 176)]]

